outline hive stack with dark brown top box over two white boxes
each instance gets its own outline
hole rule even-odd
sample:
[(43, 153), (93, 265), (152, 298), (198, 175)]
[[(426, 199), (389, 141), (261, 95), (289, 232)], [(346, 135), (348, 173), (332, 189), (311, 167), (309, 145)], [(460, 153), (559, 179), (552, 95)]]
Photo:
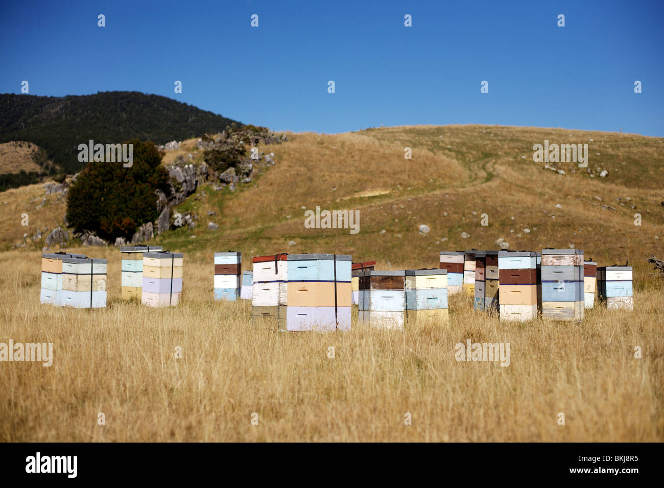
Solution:
[(406, 272), (363, 271), (359, 278), (358, 319), (373, 327), (403, 329)]

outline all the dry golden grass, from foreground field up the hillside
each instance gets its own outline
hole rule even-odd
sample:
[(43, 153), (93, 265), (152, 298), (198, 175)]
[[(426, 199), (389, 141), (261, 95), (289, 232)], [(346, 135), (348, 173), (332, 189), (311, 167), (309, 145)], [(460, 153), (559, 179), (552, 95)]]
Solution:
[[(201, 187), (183, 203), (196, 228), (150, 242), (185, 253), (183, 303), (172, 309), (120, 300), (116, 248), (68, 248), (108, 258), (106, 309), (40, 305), (44, 244), (13, 244), (62, 222), (64, 201), (49, 195), (35, 209), (42, 185), (0, 194), (0, 342), (54, 347), (50, 367), (0, 363), (1, 441), (664, 440), (664, 280), (645, 262), (664, 256), (664, 139), (479, 125), (289, 137), (260, 148), (277, 163), (250, 185)], [(544, 139), (587, 142), (588, 167), (608, 176), (543, 169), (531, 158)], [(360, 232), (304, 228), (301, 206), (359, 210)], [(250, 303), (212, 299), (215, 251), (241, 251), (244, 269), (275, 252), (432, 268), (442, 250), (496, 249), (498, 238), (513, 250), (582, 248), (600, 266), (629, 260), (635, 311), (503, 323), (454, 296), (447, 325), (380, 331), (353, 319), (347, 333), (276, 333), (252, 325)], [(511, 364), (456, 361), (467, 339), (510, 343)]]

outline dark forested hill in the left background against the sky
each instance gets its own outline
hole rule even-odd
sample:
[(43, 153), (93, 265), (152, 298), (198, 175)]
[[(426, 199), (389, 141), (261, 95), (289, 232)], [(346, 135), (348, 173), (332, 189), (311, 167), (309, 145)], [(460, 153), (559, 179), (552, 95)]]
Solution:
[(29, 141), (73, 174), (85, 165), (77, 147), (90, 139), (120, 143), (133, 137), (157, 144), (218, 132), (234, 120), (171, 98), (139, 92), (82, 96), (0, 94), (0, 143)]

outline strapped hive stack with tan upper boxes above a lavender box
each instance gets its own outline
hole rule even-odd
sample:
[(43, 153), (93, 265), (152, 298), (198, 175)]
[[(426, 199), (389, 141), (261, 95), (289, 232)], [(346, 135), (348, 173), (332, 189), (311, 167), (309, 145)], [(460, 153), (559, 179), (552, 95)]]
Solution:
[(182, 295), (183, 254), (145, 252), (141, 303), (150, 307), (177, 305)]

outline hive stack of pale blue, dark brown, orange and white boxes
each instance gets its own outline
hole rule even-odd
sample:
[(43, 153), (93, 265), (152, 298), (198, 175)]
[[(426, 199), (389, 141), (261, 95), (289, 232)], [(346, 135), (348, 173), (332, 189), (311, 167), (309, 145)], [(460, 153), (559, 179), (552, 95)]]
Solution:
[(501, 320), (537, 318), (537, 252), (499, 251), (499, 307)]

